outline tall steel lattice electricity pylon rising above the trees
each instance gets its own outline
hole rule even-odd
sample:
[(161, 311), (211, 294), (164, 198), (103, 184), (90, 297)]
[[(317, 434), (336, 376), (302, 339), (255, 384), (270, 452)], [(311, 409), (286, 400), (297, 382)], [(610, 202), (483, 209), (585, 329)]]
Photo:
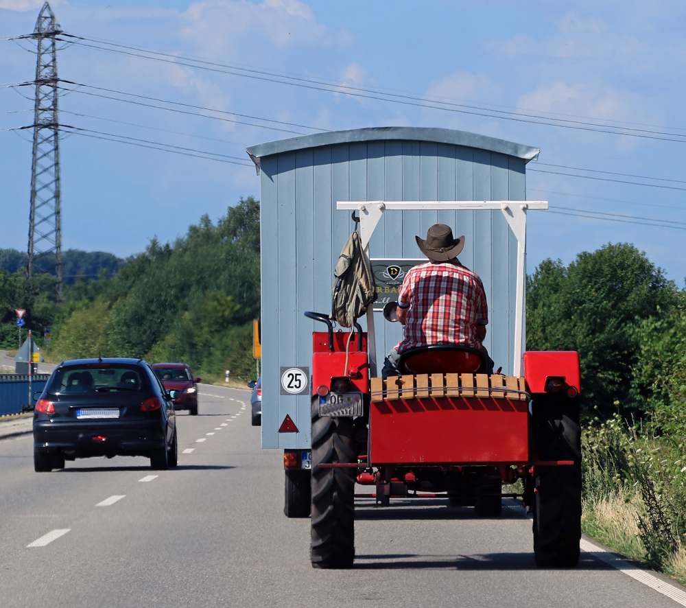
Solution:
[(57, 113), (58, 77), (56, 36), (61, 33), (50, 5), (40, 9), (31, 38), (38, 42), (34, 148), (31, 163), (31, 211), (26, 274), (31, 281), (34, 264), (54, 255), (57, 299), (62, 300), (62, 226), (60, 209), (60, 126)]

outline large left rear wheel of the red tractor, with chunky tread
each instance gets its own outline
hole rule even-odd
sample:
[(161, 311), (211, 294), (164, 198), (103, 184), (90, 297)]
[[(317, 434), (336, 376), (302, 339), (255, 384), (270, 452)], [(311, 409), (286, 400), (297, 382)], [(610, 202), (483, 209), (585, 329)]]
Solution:
[(312, 399), (312, 568), (351, 568), (355, 559), (355, 477), (352, 468), (320, 469), (321, 464), (357, 463), (350, 418), (319, 415)]

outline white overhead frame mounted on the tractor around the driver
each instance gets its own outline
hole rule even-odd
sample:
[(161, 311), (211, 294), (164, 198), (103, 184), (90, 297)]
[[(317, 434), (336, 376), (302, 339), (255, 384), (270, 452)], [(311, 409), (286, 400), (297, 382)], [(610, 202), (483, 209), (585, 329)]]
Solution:
[[(359, 233), (362, 247), (369, 260), (369, 239), (374, 233), (384, 211), (429, 211), (459, 209), (500, 209), (517, 238), (517, 290), (514, 304), (514, 375), (521, 375), (524, 354), (524, 288), (526, 280), (526, 212), (528, 209), (547, 209), (547, 200), (365, 200), (338, 201), (336, 209), (359, 211)], [(369, 364), (372, 376), (377, 375), (377, 351), (374, 334), (374, 312), (370, 304), (367, 309), (367, 332)]]

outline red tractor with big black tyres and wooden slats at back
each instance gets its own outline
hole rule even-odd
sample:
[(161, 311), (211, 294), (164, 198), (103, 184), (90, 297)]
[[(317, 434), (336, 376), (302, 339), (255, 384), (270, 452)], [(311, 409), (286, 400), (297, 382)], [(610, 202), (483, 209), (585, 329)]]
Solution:
[[(339, 203), (339, 208), (355, 208), (355, 203), (346, 204)], [(359, 208), (365, 211), (364, 205)], [(383, 211), (381, 204), (379, 209)], [(365, 244), (369, 235), (363, 222)], [(521, 322), (523, 259), (518, 270)], [(375, 370), (370, 314), (369, 333), (357, 325), (353, 336), (333, 331), (327, 314), (305, 315), (328, 326), (313, 335), (315, 568), (353, 565), (356, 483), (374, 487), (375, 492), (357, 498), (375, 498), (377, 506), (394, 498), (445, 496), (453, 505), (473, 506), (483, 517), (499, 515), (503, 498), (521, 498), (533, 517), (536, 563), (578, 563), (578, 353), (520, 353), (510, 376), (482, 373), (484, 355), (470, 347), (421, 347), (403, 353), (401, 377), (382, 379), (370, 373)], [(522, 342), (520, 332), (515, 349)], [(503, 492), (504, 486), (518, 480), (523, 490)]]

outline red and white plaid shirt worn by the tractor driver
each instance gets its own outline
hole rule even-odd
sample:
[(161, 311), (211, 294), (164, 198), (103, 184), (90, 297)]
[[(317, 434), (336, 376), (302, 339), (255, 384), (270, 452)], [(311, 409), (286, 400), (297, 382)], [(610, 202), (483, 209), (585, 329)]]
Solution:
[(488, 304), (479, 275), (469, 268), (434, 261), (411, 268), (398, 306), (409, 307), (399, 353), (427, 344), (482, 346), (476, 327), (488, 323)]

